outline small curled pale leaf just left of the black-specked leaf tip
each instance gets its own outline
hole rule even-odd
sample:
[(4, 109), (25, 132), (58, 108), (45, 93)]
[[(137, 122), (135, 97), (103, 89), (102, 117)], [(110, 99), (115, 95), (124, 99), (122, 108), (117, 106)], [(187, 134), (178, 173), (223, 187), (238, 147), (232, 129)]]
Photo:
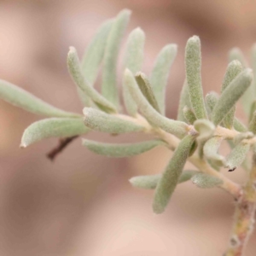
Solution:
[(204, 145), (204, 155), (207, 160), (211, 160), (216, 166), (226, 166), (224, 156), (218, 154), (218, 148), (223, 141), (223, 137), (212, 137)]

